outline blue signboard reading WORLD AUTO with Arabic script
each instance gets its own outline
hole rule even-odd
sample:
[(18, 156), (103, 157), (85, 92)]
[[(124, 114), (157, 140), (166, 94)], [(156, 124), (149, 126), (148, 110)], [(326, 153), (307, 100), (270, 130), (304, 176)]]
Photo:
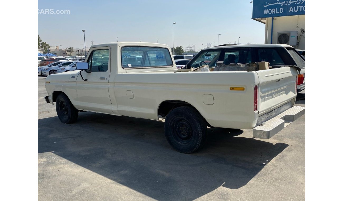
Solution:
[(252, 18), (305, 15), (305, 0), (254, 0)]

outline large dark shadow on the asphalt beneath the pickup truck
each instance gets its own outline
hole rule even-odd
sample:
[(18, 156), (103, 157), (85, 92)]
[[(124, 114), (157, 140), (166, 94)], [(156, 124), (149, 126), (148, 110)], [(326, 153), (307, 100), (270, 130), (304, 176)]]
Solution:
[(39, 119), (38, 153), (53, 152), (157, 200), (194, 200), (221, 186), (245, 186), (288, 146), (213, 128), (201, 150), (181, 154), (169, 146), (163, 126), (93, 112), (80, 112), (74, 124)]

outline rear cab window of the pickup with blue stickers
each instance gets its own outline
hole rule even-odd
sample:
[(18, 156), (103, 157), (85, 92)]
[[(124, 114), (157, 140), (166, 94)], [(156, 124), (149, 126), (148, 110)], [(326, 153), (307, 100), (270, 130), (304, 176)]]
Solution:
[(163, 47), (122, 47), (121, 66), (123, 68), (156, 68), (173, 66), (169, 50)]

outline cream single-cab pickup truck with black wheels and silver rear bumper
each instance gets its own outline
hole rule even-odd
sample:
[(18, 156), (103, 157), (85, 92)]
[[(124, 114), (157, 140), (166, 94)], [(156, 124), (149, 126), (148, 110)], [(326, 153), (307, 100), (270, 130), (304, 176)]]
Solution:
[(93, 45), (75, 71), (49, 75), (47, 103), (63, 123), (80, 111), (165, 119), (165, 135), (179, 152), (206, 141), (208, 126), (253, 129), (270, 138), (304, 114), (294, 106), (298, 70), (187, 72), (167, 45), (116, 42)]

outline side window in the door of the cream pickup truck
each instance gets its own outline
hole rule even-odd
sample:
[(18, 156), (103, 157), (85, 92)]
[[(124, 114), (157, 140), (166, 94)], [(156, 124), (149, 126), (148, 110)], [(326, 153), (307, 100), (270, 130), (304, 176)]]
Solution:
[(109, 49), (96, 49), (88, 62), (92, 72), (106, 72), (108, 70)]

